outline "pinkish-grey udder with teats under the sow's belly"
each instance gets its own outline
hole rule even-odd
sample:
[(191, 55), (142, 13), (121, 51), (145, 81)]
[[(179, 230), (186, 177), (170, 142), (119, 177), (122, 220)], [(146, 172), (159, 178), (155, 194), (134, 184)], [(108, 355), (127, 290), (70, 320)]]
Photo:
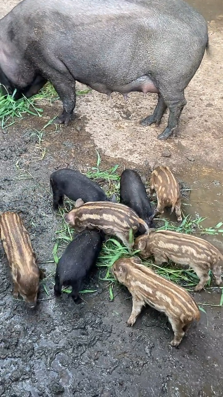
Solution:
[(154, 83), (148, 76), (139, 77), (138, 79), (131, 81), (131, 83), (124, 85), (113, 85), (110, 87), (101, 83), (88, 83), (88, 85), (99, 93), (107, 94), (108, 98), (113, 92), (123, 94), (125, 99), (127, 99), (127, 94), (132, 91), (142, 92), (144, 93), (144, 96), (146, 96), (146, 93), (159, 93), (159, 90), (155, 87)]

